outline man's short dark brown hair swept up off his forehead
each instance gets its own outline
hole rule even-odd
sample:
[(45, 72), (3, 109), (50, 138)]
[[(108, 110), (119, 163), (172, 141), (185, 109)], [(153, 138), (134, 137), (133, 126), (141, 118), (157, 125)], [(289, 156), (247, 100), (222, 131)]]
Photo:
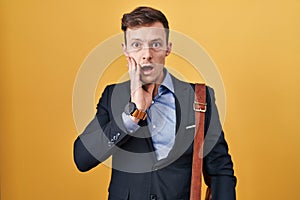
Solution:
[(155, 22), (161, 22), (166, 30), (167, 42), (169, 39), (169, 22), (166, 16), (159, 10), (151, 7), (137, 7), (130, 13), (125, 13), (122, 17), (121, 29), (124, 31), (126, 41), (127, 28), (152, 25)]

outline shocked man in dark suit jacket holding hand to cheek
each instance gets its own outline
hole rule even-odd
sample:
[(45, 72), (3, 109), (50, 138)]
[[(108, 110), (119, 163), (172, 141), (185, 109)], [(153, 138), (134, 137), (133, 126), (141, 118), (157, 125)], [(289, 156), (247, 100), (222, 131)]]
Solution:
[[(95, 118), (74, 143), (75, 163), (88, 171), (112, 156), (109, 200), (188, 200), (194, 85), (164, 67), (172, 44), (162, 12), (136, 8), (123, 15), (122, 30), (130, 81), (105, 88)], [(205, 181), (213, 200), (233, 200), (236, 178), (211, 88), (206, 96)]]

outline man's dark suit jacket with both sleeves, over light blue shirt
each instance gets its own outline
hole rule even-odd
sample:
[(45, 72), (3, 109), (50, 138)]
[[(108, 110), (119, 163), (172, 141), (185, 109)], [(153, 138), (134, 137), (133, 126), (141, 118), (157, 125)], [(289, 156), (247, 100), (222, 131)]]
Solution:
[[(157, 160), (146, 121), (128, 133), (122, 112), (130, 100), (129, 81), (107, 86), (97, 114), (74, 143), (74, 160), (88, 171), (112, 156), (109, 200), (189, 200), (195, 116), (194, 85), (172, 76), (176, 139), (167, 158)], [(203, 173), (213, 200), (234, 200), (236, 178), (219, 121), (213, 90), (207, 87)]]

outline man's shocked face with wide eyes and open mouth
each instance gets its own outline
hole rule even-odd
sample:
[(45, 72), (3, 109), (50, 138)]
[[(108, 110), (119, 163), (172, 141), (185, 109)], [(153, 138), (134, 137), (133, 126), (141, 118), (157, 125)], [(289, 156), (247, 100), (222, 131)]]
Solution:
[(133, 58), (136, 64), (141, 66), (143, 83), (162, 82), (165, 58), (171, 52), (171, 43), (167, 44), (166, 31), (162, 23), (128, 28), (123, 51), (125, 56)]

